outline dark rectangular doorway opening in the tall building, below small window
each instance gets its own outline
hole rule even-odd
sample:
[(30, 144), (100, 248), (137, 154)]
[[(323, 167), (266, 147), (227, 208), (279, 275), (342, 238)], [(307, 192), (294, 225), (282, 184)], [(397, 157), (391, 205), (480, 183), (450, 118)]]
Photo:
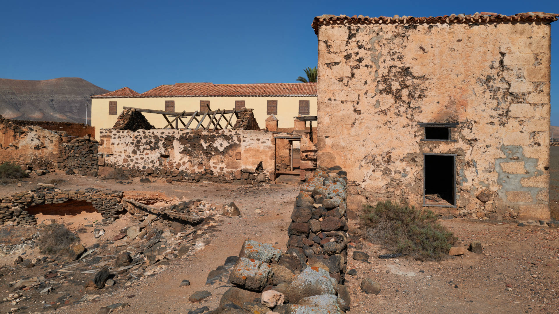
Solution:
[(424, 201), (426, 206), (454, 207), (456, 204), (456, 155), (424, 155)]

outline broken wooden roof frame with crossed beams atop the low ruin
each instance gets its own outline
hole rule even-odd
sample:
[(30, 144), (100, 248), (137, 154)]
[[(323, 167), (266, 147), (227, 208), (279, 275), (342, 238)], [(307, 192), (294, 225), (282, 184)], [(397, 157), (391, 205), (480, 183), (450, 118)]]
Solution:
[[(193, 128), (193, 130), (205, 130), (205, 131), (209, 131), (211, 126), (213, 125), (214, 127), (211, 130), (217, 130), (217, 129), (227, 129), (229, 126), (231, 126), (231, 129), (233, 129), (233, 122), (231, 122), (231, 120), (233, 119), (233, 116), (235, 116), (236, 118), (239, 118), (239, 113), (240, 112), (245, 112), (246, 109), (233, 109), (233, 110), (220, 110), (219, 108), (215, 111), (211, 111), (210, 107), (208, 106), (208, 111), (194, 111), (194, 112), (171, 112), (171, 111), (163, 111), (163, 110), (153, 110), (153, 109), (142, 109), (142, 108), (135, 108), (135, 107), (124, 107), (123, 109), (134, 109), (138, 112), (144, 112), (144, 113), (157, 113), (159, 115), (163, 115), (163, 117), (165, 118), (165, 121), (167, 121), (167, 125), (165, 125), (163, 127), (163, 129), (167, 129), (167, 127), (170, 127), (170, 129), (179, 129), (178, 127), (178, 122), (181, 122), (183, 125), (182, 129), (189, 129), (190, 125), (192, 124), (193, 121), (196, 120), (197, 124), (196, 127)], [(229, 118), (227, 118), (225, 115), (231, 113), (231, 116), (229, 116)], [(169, 120), (169, 117), (172, 118), (172, 120)], [(200, 117), (200, 120), (198, 120), (198, 117)], [(173, 118), (174, 117), (174, 118)], [(190, 117), (190, 119), (188, 119), (187, 123), (184, 123), (184, 121), (182, 121), (181, 118), (188, 118)], [(205, 118), (209, 117), (210, 120), (209, 122), (207, 122), (206, 126), (202, 125), (202, 122), (204, 122)], [(225, 126), (221, 125), (221, 120), (225, 120)], [(173, 126), (174, 124), (174, 126)]]

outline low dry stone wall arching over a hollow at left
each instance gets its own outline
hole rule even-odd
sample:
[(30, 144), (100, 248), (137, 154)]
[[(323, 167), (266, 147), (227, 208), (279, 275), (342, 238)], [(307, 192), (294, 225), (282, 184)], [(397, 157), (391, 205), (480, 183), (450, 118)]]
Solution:
[(86, 201), (101, 213), (103, 221), (114, 221), (123, 211), (121, 191), (102, 191), (95, 188), (60, 190), (37, 188), (2, 198), (0, 203), (0, 225), (12, 222), (14, 225), (36, 225), (37, 220), (26, 209), (40, 204), (64, 203), (69, 199)]

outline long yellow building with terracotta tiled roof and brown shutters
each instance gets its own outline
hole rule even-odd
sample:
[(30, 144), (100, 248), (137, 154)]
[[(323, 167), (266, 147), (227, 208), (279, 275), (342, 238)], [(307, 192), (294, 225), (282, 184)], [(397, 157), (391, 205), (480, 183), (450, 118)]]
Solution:
[[(213, 84), (176, 83), (160, 85), (145, 93), (124, 87), (92, 96), (91, 125), (99, 130), (111, 128), (122, 107), (172, 112), (193, 112), (252, 108), (260, 128), (266, 118), (275, 115), (279, 127), (293, 127), (293, 117), (316, 116), (316, 83)], [(162, 115), (144, 113), (157, 128), (167, 125)], [(234, 122), (234, 121), (233, 121)]]

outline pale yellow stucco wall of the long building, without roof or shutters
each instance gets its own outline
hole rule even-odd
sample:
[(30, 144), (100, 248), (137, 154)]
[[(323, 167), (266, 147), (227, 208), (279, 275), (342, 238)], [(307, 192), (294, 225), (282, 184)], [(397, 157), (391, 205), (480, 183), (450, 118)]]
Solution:
[[(200, 110), (200, 101), (210, 101), (211, 110), (231, 110), (235, 108), (235, 101), (244, 100), (246, 108), (254, 109), (254, 117), (258, 125), (264, 128), (264, 120), (269, 116), (266, 113), (267, 101), (278, 101), (278, 114), (280, 127), (293, 127), (293, 117), (299, 115), (299, 101), (308, 100), (310, 115), (316, 115), (316, 97), (148, 97), (148, 98), (93, 98), (91, 104), (91, 125), (96, 128), (96, 138), (98, 139), (99, 130), (112, 127), (116, 118), (122, 112), (122, 107), (136, 107), (143, 109), (165, 110), (165, 101), (175, 102), (175, 111), (193, 112)], [(108, 114), (108, 103), (116, 101), (117, 115)], [(167, 125), (167, 121), (162, 115), (154, 113), (144, 113), (148, 121), (157, 128)], [(229, 116), (227, 116), (229, 118)], [(235, 122), (233, 118), (233, 123)], [(184, 121), (185, 123), (187, 121)], [(222, 121), (225, 125), (225, 121)], [(181, 125), (181, 123), (179, 123)]]

